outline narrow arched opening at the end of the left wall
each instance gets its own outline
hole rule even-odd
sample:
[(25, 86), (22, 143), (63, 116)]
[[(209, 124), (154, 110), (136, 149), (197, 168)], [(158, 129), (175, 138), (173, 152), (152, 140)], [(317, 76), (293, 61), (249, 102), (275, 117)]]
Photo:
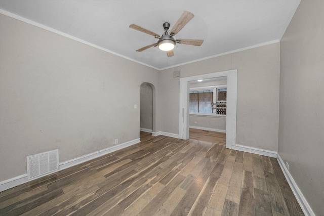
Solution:
[(140, 131), (155, 132), (155, 87), (148, 82), (140, 86)]

